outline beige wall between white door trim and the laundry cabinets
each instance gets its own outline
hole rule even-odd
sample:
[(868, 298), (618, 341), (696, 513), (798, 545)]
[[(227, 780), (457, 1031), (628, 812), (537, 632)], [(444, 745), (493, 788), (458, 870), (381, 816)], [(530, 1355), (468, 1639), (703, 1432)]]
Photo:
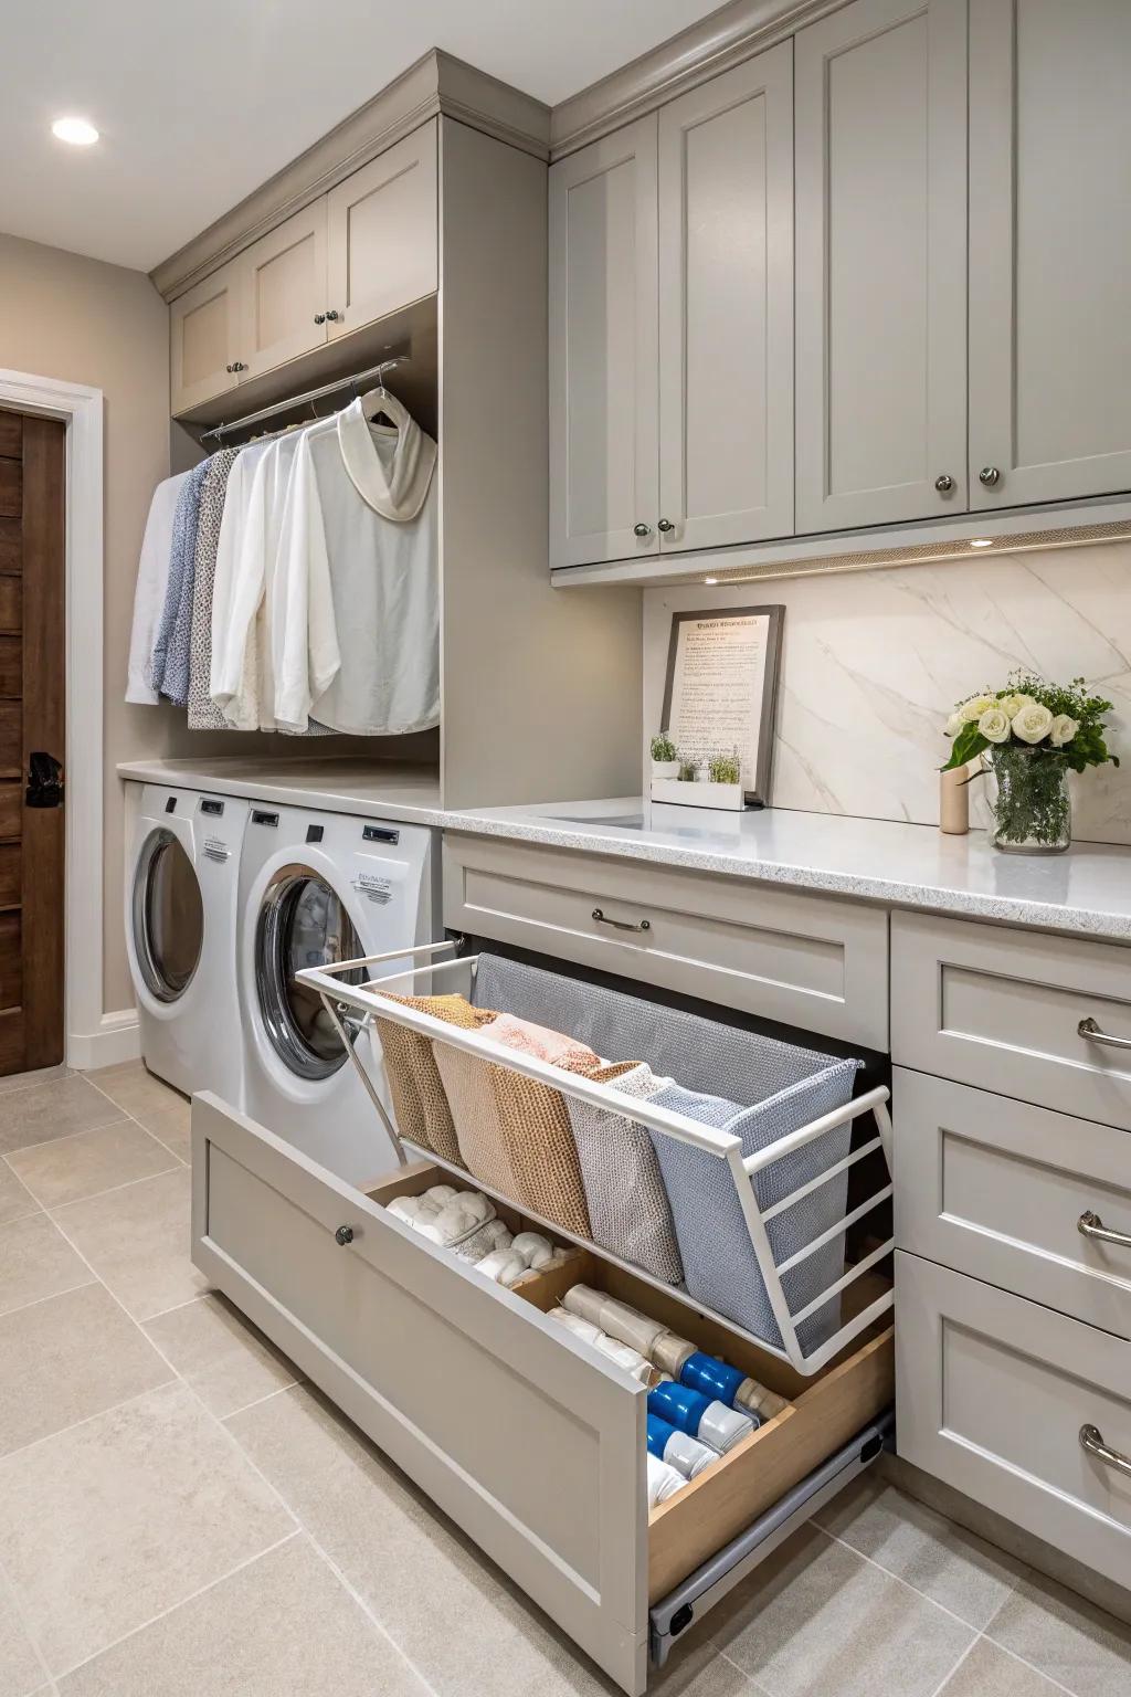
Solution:
[(0, 367), (105, 394), (105, 701), (68, 711), (103, 714), (105, 901), (92, 921), (103, 927), (103, 1008), (129, 1008), (115, 764), (166, 752), (176, 725), (171, 709), (122, 701), (141, 533), (170, 468), (168, 307), (141, 272), (0, 236)]

